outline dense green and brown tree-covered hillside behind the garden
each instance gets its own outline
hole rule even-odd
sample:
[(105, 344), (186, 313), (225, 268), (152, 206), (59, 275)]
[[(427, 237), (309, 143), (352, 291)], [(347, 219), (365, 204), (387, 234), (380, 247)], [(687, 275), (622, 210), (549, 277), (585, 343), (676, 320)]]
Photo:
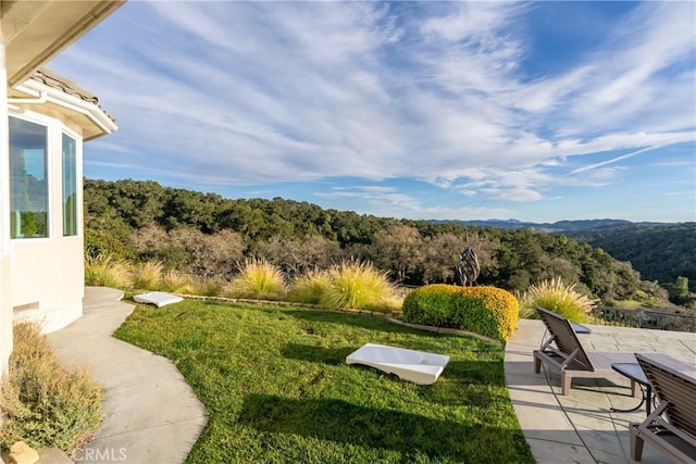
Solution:
[(461, 251), (478, 255), (477, 284), (523, 292), (561, 277), (600, 304), (670, 306), (629, 262), (563, 235), (395, 220), (275, 198), (224, 199), (154, 181), (85, 180), (85, 252), (159, 260), (202, 276), (232, 276), (264, 258), (288, 277), (341, 260), (372, 262), (401, 285), (455, 283)]

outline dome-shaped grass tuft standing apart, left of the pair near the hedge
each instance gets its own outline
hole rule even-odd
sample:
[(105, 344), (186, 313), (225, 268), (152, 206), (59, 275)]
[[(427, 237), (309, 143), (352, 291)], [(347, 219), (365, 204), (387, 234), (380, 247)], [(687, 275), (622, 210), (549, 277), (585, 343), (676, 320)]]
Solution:
[(239, 268), (239, 274), (233, 278), (229, 286), (231, 297), (259, 300), (285, 298), (285, 277), (273, 264), (263, 259), (248, 259)]

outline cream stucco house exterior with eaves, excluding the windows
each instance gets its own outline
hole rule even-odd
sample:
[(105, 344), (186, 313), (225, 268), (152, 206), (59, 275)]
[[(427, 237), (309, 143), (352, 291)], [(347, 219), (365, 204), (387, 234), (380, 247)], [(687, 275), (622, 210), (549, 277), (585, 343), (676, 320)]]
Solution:
[[(32, 318), (45, 333), (82, 315), (84, 294), (82, 145), (115, 130), (92, 95), (39, 68), (125, 0), (0, 0), (0, 377), (12, 353), (12, 325)], [(9, 116), (48, 127), (48, 234), (12, 238)], [(61, 134), (75, 140), (76, 233), (63, 233)], [(73, 227), (74, 229), (74, 227)]]

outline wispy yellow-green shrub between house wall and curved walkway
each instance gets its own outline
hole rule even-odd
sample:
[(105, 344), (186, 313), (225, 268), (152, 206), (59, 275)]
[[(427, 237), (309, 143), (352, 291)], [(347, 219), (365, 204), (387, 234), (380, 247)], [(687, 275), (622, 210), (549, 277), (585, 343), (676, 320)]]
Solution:
[(87, 372), (58, 363), (36, 324), (15, 324), (9, 372), (0, 384), (0, 447), (23, 440), (72, 454), (99, 427), (102, 396)]

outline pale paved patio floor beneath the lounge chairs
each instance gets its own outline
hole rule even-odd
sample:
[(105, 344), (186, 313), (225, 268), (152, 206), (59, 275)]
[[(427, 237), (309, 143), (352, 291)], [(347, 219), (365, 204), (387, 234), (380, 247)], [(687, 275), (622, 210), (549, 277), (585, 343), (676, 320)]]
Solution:
[[(696, 364), (696, 334), (588, 325), (579, 335), (587, 350), (668, 353)], [(632, 463), (629, 423), (645, 418), (645, 409), (611, 412), (639, 403), (631, 397), (630, 380), (573, 379), (570, 394), (560, 394), (560, 377), (548, 369), (534, 374), (532, 350), (539, 348), (545, 327), (540, 321), (521, 319), (506, 346), (505, 373), (514, 411), (538, 463)], [(644, 464), (663, 463), (666, 456), (649, 443)]]

